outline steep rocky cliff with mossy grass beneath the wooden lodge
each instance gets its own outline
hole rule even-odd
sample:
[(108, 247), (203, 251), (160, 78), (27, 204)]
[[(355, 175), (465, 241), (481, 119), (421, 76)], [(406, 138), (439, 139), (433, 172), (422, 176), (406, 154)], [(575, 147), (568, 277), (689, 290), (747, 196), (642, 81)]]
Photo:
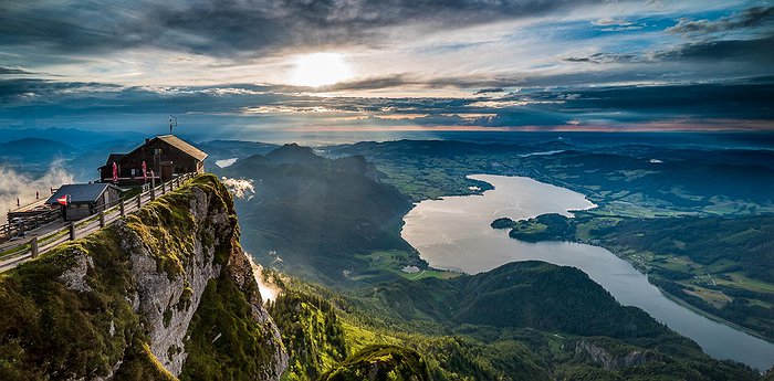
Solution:
[(278, 380), (287, 363), (212, 176), (3, 275), (0, 303), (3, 380), (195, 379), (232, 352), (250, 354), (239, 378)]

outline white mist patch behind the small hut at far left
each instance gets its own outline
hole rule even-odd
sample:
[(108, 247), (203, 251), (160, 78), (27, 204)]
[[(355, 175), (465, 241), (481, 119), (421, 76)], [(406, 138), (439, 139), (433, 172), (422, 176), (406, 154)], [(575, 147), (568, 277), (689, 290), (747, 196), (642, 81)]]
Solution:
[(62, 161), (55, 161), (49, 171), (39, 178), (0, 166), (0, 224), (8, 222), (6, 213), (17, 208), (17, 199), (22, 205), (27, 205), (35, 201), (35, 192), (40, 192), (41, 199), (48, 199), (51, 188), (73, 182), (73, 176), (64, 169)]

